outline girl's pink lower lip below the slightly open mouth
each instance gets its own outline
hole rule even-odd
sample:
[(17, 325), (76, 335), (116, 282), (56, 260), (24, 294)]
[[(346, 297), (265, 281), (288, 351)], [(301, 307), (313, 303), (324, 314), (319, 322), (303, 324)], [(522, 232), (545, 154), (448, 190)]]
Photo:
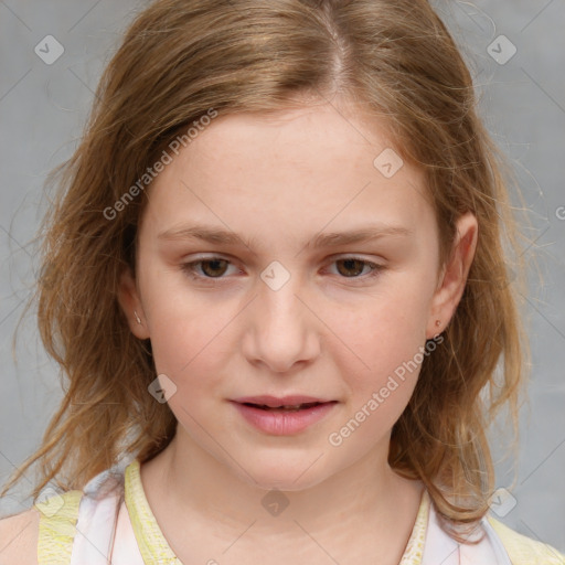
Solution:
[(234, 403), (239, 414), (254, 427), (274, 436), (289, 436), (303, 431), (328, 415), (337, 403), (318, 404), (296, 412), (275, 412)]

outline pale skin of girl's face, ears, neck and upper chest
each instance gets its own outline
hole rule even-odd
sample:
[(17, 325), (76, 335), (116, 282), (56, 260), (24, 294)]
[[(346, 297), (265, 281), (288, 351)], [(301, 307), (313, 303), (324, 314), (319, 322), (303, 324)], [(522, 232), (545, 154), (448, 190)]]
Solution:
[[(402, 557), (423, 486), (396, 475), (387, 452), (418, 371), (339, 447), (328, 437), (448, 324), (478, 228), (471, 214), (459, 218), (440, 268), (422, 172), (405, 163), (387, 179), (373, 166), (388, 147), (382, 124), (369, 127), (344, 105), (221, 117), (150, 186), (120, 303), (134, 334), (151, 340), (157, 374), (177, 386), (168, 401), (177, 436), (141, 466), (141, 480), (185, 565)], [(248, 246), (160, 237), (196, 223)], [(369, 225), (387, 230), (364, 243), (305, 246)], [(198, 279), (183, 269), (214, 257), (228, 263), (195, 265)], [(361, 274), (339, 263), (352, 257)], [(278, 290), (260, 277), (274, 260), (290, 275)], [(370, 264), (381, 266), (376, 276)], [(260, 394), (338, 403), (305, 431), (273, 436), (228, 402)], [(262, 505), (270, 489), (288, 500), (276, 516)]]

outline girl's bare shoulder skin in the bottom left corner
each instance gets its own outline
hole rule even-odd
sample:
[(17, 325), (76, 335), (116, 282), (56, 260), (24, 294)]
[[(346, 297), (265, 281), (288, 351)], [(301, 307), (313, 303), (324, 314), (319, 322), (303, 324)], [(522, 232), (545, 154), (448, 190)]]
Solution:
[(38, 565), (40, 512), (29, 510), (0, 519), (0, 563)]

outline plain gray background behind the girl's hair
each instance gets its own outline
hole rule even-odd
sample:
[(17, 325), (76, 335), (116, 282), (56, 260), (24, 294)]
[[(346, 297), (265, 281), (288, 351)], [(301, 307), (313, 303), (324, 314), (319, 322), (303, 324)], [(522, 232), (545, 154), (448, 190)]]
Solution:
[[(463, 49), (481, 93), (487, 127), (510, 156), (531, 210), (532, 248), (543, 285), (526, 297), (532, 344), (530, 408), (521, 413), (521, 449), (512, 495), (493, 510), (516, 531), (565, 552), (565, 2), (434, 2)], [(62, 397), (57, 367), (42, 350), (33, 316), (12, 356), (12, 334), (36, 270), (32, 243), (45, 210), (46, 173), (67, 159), (81, 136), (104, 64), (136, 0), (0, 0), (0, 482), (39, 447)], [(46, 35), (64, 46), (45, 64), (34, 47)], [(504, 64), (500, 56), (516, 53)], [(502, 41), (502, 43), (501, 43)], [(493, 43), (494, 42), (494, 43)], [(492, 433), (499, 439), (498, 431)], [(498, 441), (503, 444), (504, 441)], [(499, 487), (511, 461), (494, 450)], [(24, 481), (31, 488), (30, 479)], [(29, 508), (18, 491), (0, 515)], [(508, 512), (508, 513), (507, 513)], [(502, 515), (505, 514), (505, 515)]]

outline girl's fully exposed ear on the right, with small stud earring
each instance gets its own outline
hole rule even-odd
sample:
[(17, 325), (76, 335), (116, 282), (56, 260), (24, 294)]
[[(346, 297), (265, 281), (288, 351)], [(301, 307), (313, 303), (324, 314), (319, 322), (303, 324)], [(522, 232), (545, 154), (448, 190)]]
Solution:
[[(479, 226), (477, 218), (467, 212), (456, 223), (457, 235), (451, 254), (441, 269), (438, 287), (431, 299), (430, 317), (426, 327), (426, 339), (441, 333), (463, 295), (469, 269), (477, 249)], [(439, 320), (439, 324), (436, 321)]]

